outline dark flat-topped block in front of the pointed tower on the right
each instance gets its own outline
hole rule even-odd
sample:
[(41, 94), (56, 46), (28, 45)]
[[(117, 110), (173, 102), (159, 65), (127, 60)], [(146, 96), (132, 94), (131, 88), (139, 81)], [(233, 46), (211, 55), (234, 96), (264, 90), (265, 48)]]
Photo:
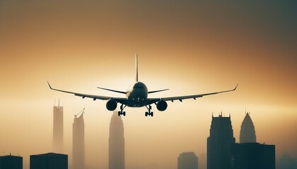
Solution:
[(259, 143), (231, 145), (232, 169), (275, 169), (275, 146)]

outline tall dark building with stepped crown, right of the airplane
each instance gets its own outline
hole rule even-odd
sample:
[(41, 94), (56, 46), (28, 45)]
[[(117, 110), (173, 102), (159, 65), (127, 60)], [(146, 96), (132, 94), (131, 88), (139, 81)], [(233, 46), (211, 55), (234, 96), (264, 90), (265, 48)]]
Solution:
[(231, 144), (235, 143), (231, 116), (212, 116), (210, 136), (207, 138), (207, 168), (231, 168)]

